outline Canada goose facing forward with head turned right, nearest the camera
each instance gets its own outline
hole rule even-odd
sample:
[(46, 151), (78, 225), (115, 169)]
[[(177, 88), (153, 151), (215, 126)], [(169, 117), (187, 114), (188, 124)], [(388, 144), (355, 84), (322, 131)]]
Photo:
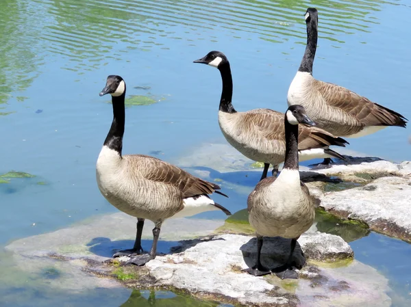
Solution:
[[(288, 261), (277, 268), (279, 278), (298, 278), (292, 271), (292, 253), (297, 239), (314, 222), (315, 206), (308, 187), (300, 181), (298, 170), (298, 124), (314, 125), (306, 111), (300, 105), (288, 107), (284, 118), (286, 130), (286, 161), (279, 176), (265, 178), (250, 193), (247, 208), (249, 222), (256, 229), (257, 263), (250, 274), (262, 276), (271, 273), (261, 264), (260, 254), (262, 237), (283, 237), (291, 239), (291, 251)], [(274, 271), (274, 270), (273, 270)]]

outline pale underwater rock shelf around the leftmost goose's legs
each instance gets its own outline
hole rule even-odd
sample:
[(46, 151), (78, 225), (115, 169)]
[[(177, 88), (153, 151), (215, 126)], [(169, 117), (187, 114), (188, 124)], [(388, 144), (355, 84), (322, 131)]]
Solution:
[[(96, 278), (83, 269), (90, 263), (103, 269), (102, 261), (111, 258), (118, 250), (132, 248), (136, 221), (125, 213), (99, 215), (69, 228), (18, 239), (7, 245), (5, 252), (12, 258), (10, 266), (22, 274), (29, 271), (47, 276), (51, 270), (59, 278), (53, 279), (49, 286), (58, 289), (83, 291), (121, 286), (114, 280)], [(223, 220), (168, 219), (162, 226), (158, 250), (169, 252), (171, 246), (178, 244), (177, 241), (208, 235), (223, 224)], [(152, 222), (145, 222), (142, 234), (145, 250), (151, 247), (153, 227)]]

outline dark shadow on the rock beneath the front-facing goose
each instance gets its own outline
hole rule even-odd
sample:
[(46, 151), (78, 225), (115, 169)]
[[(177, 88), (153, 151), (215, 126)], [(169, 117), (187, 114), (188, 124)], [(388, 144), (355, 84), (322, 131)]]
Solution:
[[(286, 263), (288, 255), (290, 254), (291, 239), (284, 239), (282, 237), (264, 237), (261, 249), (261, 263), (269, 269), (281, 267)], [(250, 239), (247, 243), (240, 247), (242, 258), (248, 267), (256, 265), (257, 261), (257, 238)], [(306, 258), (301, 250), (301, 245), (297, 241), (294, 253), (292, 254), (292, 265), (295, 267), (302, 267), (306, 263)]]

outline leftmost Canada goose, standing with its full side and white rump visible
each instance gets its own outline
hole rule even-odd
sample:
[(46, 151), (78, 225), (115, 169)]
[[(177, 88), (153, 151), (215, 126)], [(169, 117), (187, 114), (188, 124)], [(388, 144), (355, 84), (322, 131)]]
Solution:
[[(128, 263), (145, 265), (155, 258), (160, 228), (164, 219), (221, 210), (208, 194), (219, 193), (218, 185), (203, 181), (175, 165), (146, 155), (122, 155), (125, 124), (125, 81), (110, 75), (100, 96), (111, 94), (114, 118), (97, 159), (97, 185), (105, 199), (117, 209), (138, 218), (134, 248), (114, 254), (132, 257)], [(151, 220), (153, 245), (142, 254), (141, 234), (145, 219)]]

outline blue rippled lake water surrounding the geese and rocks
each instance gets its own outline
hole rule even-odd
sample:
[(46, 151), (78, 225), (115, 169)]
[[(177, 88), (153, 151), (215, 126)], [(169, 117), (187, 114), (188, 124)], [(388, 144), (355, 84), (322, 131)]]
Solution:
[[(223, 142), (219, 73), (192, 61), (223, 51), (232, 64), (236, 109), (285, 111), (305, 48), (303, 14), (312, 6), (319, 10), (314, 76), (411, 118), (407, 0), (2, 0), (0, 174), (36, 177), (0, 184), (0, 245), (116, 211), (95, 183), (95, 161), (112, 120), (110, 98), (98, 95), (107, 75), (121, 75), (127, 94), (158, 101), (127, 109), (124, 152), (173, 161), (203, 142)], [(350, 139), (349, 150), (402, 161), (410, 159), (409, 135), (392, 127)], [(239, 198), (242, 203), (234, 202)], [(238, 211), (245, 199), (234, 195), (227, 206)], [(410, 246), (376, 234), (351, 245), (358, 260), (390, 278), (396, 306), (409, 306)], [(0, 306), (121, 306), (130, 295), (148, 302), (154, 294), (96, 289), (77, 297), (2, 284), (5, 295), (9, 303)]]

